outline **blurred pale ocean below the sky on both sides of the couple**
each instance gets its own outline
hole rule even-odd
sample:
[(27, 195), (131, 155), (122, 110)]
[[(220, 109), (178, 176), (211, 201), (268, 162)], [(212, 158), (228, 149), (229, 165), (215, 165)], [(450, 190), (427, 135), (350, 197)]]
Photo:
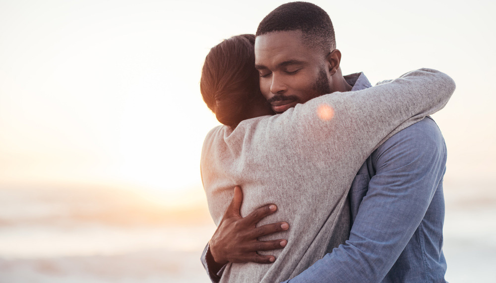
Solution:
[[(496, 282), (494, 183), (445, 182), (449, 282)], [(215, 226), (116, 189), (0, 188), (0, 283), (209, 282)]]

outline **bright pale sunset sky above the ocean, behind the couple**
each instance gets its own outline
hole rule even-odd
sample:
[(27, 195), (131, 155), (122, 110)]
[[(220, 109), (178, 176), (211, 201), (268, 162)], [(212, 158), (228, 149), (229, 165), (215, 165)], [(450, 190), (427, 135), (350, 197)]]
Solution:
[[(430, 67), (457, 89), (434, 114), (445, 180), (496, 173), (496, 3), (312, 1), (330, 15), (344, 74), (372, 83)], [(0, 186), (201, 189), (209, 49), (255, 33), (284, 1), (0, 0)]]

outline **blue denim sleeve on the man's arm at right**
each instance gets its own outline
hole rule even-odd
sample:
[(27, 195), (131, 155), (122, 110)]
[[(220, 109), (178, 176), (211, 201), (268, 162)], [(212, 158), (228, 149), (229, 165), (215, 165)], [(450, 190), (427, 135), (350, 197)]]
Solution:
[(420, 225), (446, 163), (437, 125), (425, 118), (372, 154), (376, 173), (350, 239), (286, 282), (380, 282)]

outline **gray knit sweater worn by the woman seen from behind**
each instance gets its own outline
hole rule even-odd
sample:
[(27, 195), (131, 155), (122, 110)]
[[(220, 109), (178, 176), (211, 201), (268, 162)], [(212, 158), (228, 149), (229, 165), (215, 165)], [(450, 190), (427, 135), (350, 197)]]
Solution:
[[(453, 80), (420, 69), (355, 92), (323, 95), (285, 113), (218, 126), (205, 138), (201, 174), (210, 214), (218, 225), (235, 185), (244, 194), (242, 216), (275, 203), (258, 225), (279, 221), (288, 231), (262, 237), (288, 239), (273, 264), (228, 264), (221, 282), (291, 279), (348, 238), (346, 196), (366, 158), (383, 141), (447, 103)], [(331, 119), (319, 109), (333, 110)], [(331, 115), (324, 115), (331, 116)]]

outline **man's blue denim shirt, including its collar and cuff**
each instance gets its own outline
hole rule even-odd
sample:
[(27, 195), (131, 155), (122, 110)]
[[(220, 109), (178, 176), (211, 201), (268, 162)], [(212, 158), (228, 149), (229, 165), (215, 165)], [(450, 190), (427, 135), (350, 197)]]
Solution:
[[(372, 85), (345, 76), (352, 91)], [(350, 238), (289, 283), (445, 282), (442, 253), (444, 139), (430, 117), (396, 133), (366, 160), (349, 193)], [(219, 274), (202, 263), (212, 282)]]

